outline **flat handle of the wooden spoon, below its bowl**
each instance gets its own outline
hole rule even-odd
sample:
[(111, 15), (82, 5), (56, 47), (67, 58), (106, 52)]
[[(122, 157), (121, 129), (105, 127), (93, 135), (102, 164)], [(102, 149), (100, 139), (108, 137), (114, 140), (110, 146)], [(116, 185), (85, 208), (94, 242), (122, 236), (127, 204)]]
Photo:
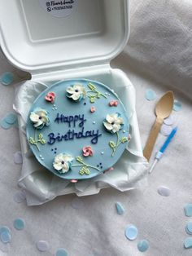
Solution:
[(154, 148), (155, 141), (157, 139), (157, 136), (159, 134), (160, 127), (162, 126), (164, 119), (159, 119), (158, 117), (155, 120), (155, 124), (153, 125), (151, 129), (151, 133), (149, 135), (149, 138), (146, 142), (146, 147), (143, 150), (143, 156), (146, 157), (146, 159), (149, 161), (151, 157), (151, 152)]

